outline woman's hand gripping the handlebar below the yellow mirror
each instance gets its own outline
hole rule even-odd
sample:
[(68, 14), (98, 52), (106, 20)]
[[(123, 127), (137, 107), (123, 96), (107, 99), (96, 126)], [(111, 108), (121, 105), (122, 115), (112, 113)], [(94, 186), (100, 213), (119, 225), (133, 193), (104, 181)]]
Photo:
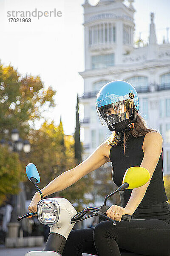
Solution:
[(112, 205), (106, 212), (107, 216), (111, 218), (113, 221), (121, 221), (122, 215), (129, 214), (132, 215), (130, 210), (127, 210), (118, 205)]

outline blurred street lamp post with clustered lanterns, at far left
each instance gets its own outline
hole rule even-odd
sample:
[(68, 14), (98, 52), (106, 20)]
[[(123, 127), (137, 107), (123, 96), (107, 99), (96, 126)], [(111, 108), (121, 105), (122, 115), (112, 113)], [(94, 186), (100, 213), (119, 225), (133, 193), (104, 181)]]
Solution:
[[(1, 145), (5, 144), (5, 140), (0, 141)], [(28, 140), (23, 141), (19, 136), (19, 131), (17, 129), (13, 129), (11, 131), (11, 141), (8, 141), (8, 147), (10, 151), (21, 152), (28, 154), (31, 150), (31, 145)], [(20, 183), (20, 187), (23, 187), (23, 184)], [(17, 221), (17, 202), (18, 195), (12, 195), (12, 214), (11, 220), (8, 223), (8, 237), (9, 238), (17, 238), (18, 237), (18, 228), (20, 224)]]

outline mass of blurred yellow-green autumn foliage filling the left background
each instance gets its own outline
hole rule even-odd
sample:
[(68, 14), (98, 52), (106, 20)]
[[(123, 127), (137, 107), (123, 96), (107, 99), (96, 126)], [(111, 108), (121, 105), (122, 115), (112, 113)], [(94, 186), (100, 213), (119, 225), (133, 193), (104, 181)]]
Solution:
[[(21, 180), (26, 180), (27, 198), (32, 198), (35, 187), (26, 177), (26, 164), (32, 162), (37, 166), (42, 188), (62, 172), (74, 168), (81, 162), (78, 97), (75, 132), (77, 153), (74, 151), (74, 138), (64, 135), (61, 119), (58, 127), (54, 122), (49, 124), (44, 119), (41, 128), (35, 129), (35, 122), (43, 118), (44, 111), (55, 106), (55, 93), (51, 87), (45, 90), (39, 76), (22, 77), (11, 65), (3, 67), (0, 64), (0, 139), (5, 137), (6, 140), (10, 140), (11, 130), (17, 128), (20, 137), (28, 139), (31, 143), (30, 154), (20, 152), (21, 162), (16, 153), (8, 153), (7, 149), (2, 148), (0, 203), (5, 200), (6, 194), (18, 192), (18, 183)], [(9, 134), (3, 134), (4, 129), (8, 129)], [(57, 195), (68, 198), (77, 209), (80, 209), (82, 203), (88, 203), (84, 195), (91, 189), (90, 184), (90, 179), (86, 176)]]

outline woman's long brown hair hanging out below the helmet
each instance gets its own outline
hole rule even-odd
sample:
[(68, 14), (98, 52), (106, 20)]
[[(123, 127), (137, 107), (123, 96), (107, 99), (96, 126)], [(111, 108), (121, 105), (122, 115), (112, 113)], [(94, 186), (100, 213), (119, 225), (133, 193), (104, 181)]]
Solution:
[[(150, 131), (156, 131), (156, 130), (147, 128), (146, 122), (144, 121), (142, 116), (137, 114), (137, 118), (134, 122), (134, 128), (132, 128), (132, 129), (130, 129), (130, 131), (124, 133), (124, 139), (123, 139), (124, 154), (125, 154), (125, 145), (130, 136), (138, 138), (138, 137), (146, 135)], [(158, 132), (158, 131), (156, 131), (156, 132)], [(118, 132), (113, 131), (112, 134), (106, 139), (106, 142), (107, 142), (107, 145), (111, 145), (111, 146), (118, 145), (118, 142), (119, 142), (118, 141)]]

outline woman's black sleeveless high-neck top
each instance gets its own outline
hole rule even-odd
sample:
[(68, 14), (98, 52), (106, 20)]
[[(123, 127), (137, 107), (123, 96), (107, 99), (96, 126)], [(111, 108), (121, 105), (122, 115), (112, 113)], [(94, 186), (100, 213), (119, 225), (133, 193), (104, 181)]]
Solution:
[[(122, 185), (123, 176), (129, 167), (141, 165), (142, 159), (144, 157), (144, 152), (142, 150), (144, 136), (139, 138), (131, 136), (126, 143), (125, 155), (122, 137), (118, 145), (111, 147), (110, 160), (113, 166), (112, 179), (116, 186), (119, 187)], [(141, 209), (140, 207), (144, 209), (144, 207), (168, 201), (164, 188), (162, 168), (163, 161), (161, 153), (159, 162), (150, 180), (150, 184), (147, 187), (144, 198), (142, 199), (137, 209)], [(122, 207), (126, 206), (130, 199), (131, 192), (132, 189), (125, 189), (119, 192)], [(168, 219), (170, 219), (170, 206), (168, 203), (165, 203), (165, 206), (168, 207), (167, 214), (169, 215)], [(137, 209), (135, 212), (137, 212)]]

